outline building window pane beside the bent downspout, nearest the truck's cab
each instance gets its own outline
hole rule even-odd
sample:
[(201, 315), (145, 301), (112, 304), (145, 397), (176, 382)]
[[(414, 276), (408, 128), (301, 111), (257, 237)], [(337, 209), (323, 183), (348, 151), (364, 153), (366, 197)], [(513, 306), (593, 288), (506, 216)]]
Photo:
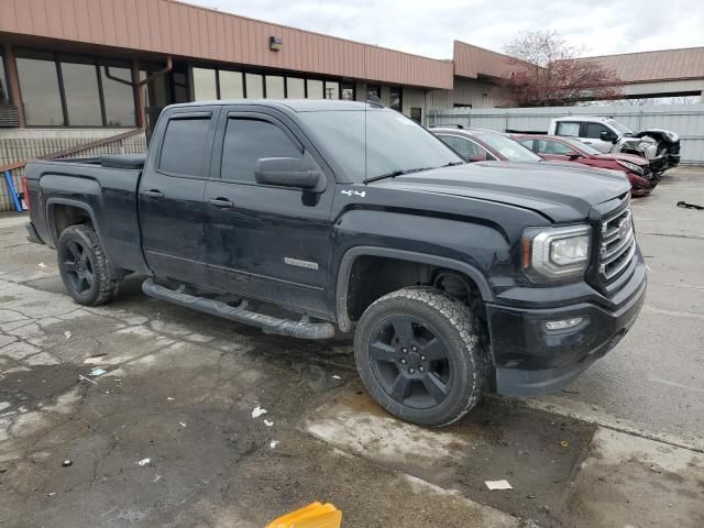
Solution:
[(123, 62), (101, 62), (100, 79), (106, 107), (107, 127), (134, 127), (134, 89), (132, 69)]

